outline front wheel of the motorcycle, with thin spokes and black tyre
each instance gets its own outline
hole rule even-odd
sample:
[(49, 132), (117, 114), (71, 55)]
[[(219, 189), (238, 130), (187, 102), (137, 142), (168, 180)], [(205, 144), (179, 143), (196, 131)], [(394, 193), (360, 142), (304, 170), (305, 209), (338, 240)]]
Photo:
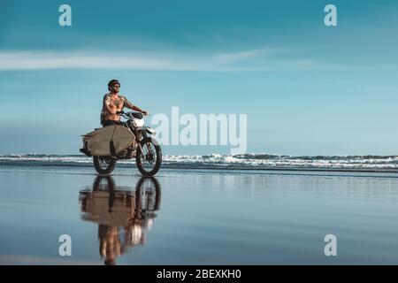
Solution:
[(140, 143), (143, 155), (141, 150), (137, 149), (135, 156), (138, 170), (144, 176), (153, 176), (159, 171), (160, 164), (162, 164), (162, 149), (152, 138), (144, 138)]

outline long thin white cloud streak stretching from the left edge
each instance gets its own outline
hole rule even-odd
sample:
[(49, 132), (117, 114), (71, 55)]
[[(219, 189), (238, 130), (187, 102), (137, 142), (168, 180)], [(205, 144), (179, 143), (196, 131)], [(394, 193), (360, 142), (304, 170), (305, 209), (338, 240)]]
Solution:
[(318, 62), (273, 57), (276, 50), (257, 49), (192, 55), (188, 53), (120, 53), (88, 51), (0, 51), (0, 71), (51, 69), (117, 69), (152, 71), (256, 72), (283, 69), (325, 68)]

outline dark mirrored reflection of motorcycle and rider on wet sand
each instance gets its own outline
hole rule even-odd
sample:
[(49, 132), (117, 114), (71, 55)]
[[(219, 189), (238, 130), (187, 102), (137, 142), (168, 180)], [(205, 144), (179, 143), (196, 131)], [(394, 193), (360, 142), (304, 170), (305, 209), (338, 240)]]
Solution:
[(81, 218), (98, 224), (104, 264), (116, 264), (116, 258), (128, 249), (145, 244), (160, 207), (160, 195), (161, 187), (154, 177), (142, 177), (132, 191), (115, 187), (111, 176), (98, 176), (92, 189), (80, 190)]

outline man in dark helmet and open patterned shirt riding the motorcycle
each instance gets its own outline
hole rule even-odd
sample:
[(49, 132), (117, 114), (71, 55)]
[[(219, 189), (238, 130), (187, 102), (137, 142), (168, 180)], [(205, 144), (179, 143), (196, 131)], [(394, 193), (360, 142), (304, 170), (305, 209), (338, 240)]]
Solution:
[(103, 126), (121, 125), (120, 116), (116, 112), (122, 111), (125, 107), (142, 112), (145, 116), (149, 115), (149, 112), (143, 111), (141, 108), (130, 103), (125, 96), (120, 96), (119, 89), (119, 80), (111, 80), (108, 83), (110, 93), (103, 96), (103, 110), (101, 111), (101, 125)]

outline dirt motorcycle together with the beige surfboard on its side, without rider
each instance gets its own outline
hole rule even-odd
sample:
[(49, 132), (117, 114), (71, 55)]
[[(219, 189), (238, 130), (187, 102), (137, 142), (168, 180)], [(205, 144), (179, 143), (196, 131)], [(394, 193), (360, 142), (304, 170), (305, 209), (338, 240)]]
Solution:
[(126, 119), (122, 125), (103, 126), (82, 135), (80, 152), (93, 157), (96, 172), (109, 175), (118, 160), (134, 159), (144, 176), (155, 175), (162, 164), (162, 149), (151, 135), (156, 134), (144, 126), (140, 112), (117, 112)]

